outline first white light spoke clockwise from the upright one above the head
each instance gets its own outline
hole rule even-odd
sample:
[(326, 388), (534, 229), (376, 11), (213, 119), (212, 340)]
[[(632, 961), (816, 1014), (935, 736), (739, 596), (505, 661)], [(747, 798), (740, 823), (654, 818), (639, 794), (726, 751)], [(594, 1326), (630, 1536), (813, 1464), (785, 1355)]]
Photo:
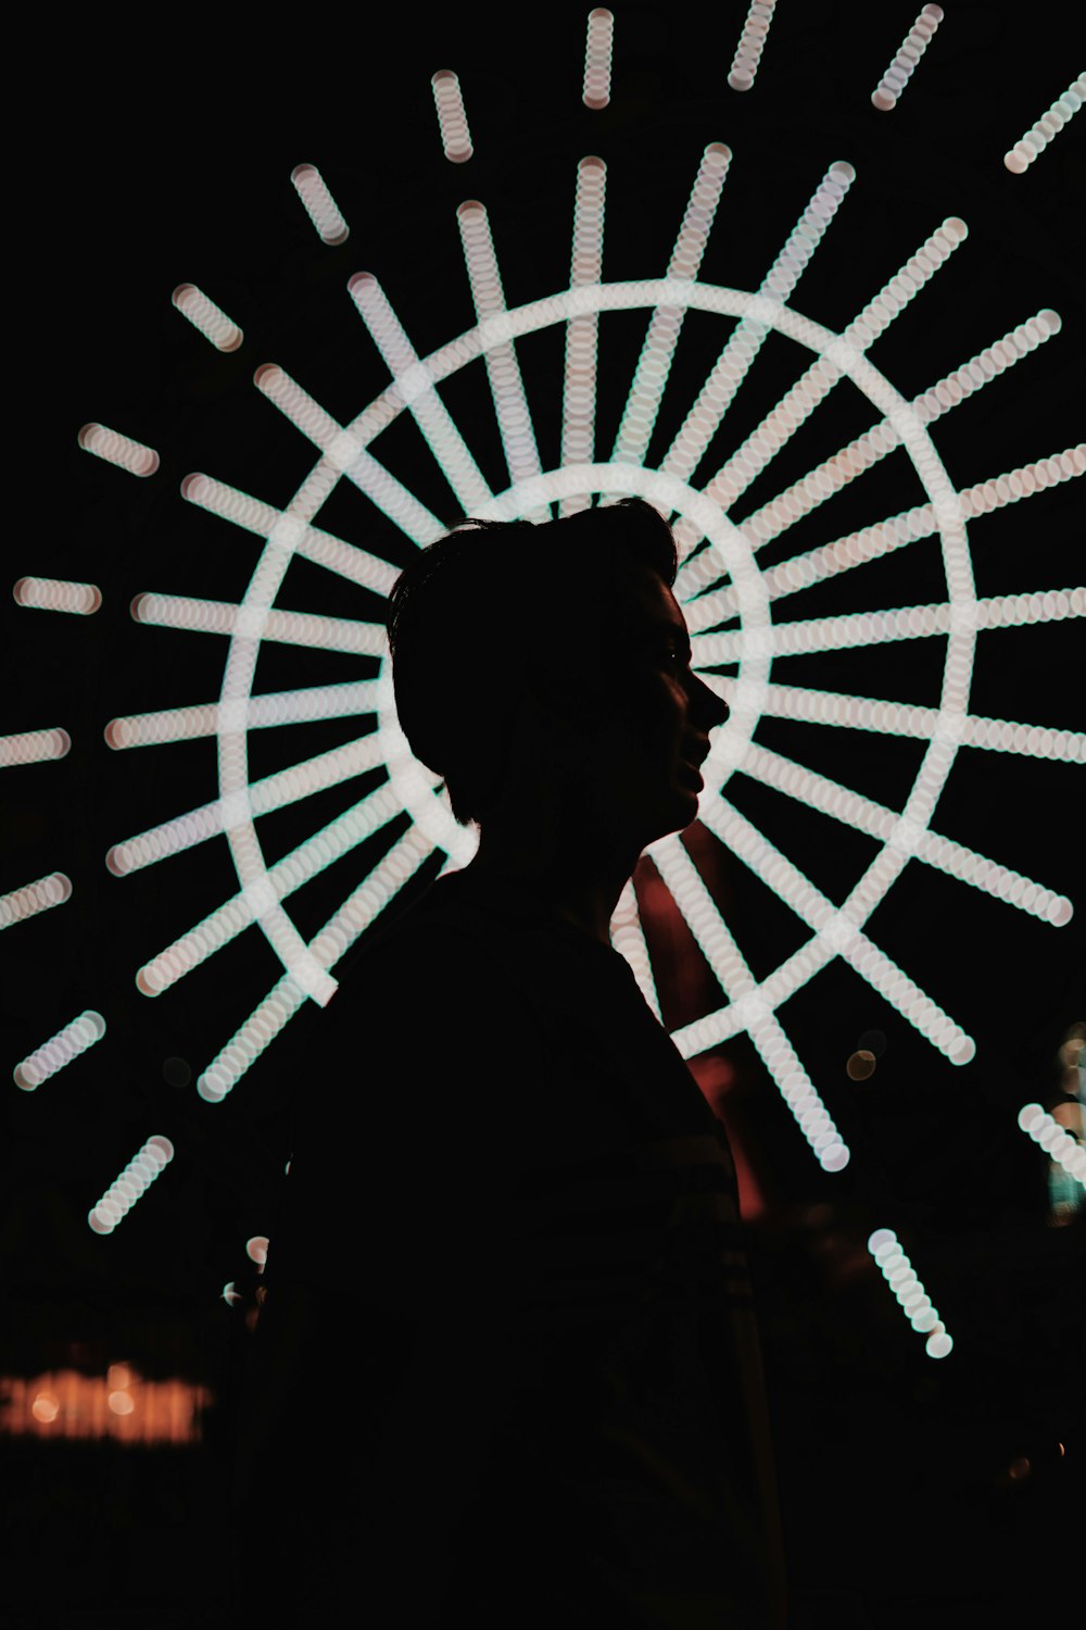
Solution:
[[(668, 264), (669, 279), (676, 277), (684, 282), (697, 279), (729, 165), (731, 148), (725, 147), (723, 142), (710, 142), (702, 153), (702, 161), (682, 215), (682, 225), (679, 227), (679, 236), (671, 251)], [(611, 453), (612, 463), (645, 463), (684, 318), (685, 306), (668, 305), (656, 306), (648, 321), (633, 383), (625, 399), (622, 422), (619, 424), (614, 452)], [(671, 469), (666, 460), (663, 468)], [(676, 468), (672, 473), (685, 476), (687, 471)]]

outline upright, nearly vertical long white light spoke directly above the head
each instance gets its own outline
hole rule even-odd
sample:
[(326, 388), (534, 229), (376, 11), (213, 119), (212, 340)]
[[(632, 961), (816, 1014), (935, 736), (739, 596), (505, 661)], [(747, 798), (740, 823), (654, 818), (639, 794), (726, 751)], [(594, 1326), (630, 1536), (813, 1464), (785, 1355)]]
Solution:
[[(573, 253), (570, 287), (598, 284), (604, 258), (604, 200), (607, 166), (589, 155), (576, 166), (573, 200)], [(596, 349), (599, 316), (586, 311), (565, 326), (565, 377), (562, 383), (562, 466), (591, 465), (596, 456)], [(558, 515), (589, 509), (588, 494), (565, 497)]]

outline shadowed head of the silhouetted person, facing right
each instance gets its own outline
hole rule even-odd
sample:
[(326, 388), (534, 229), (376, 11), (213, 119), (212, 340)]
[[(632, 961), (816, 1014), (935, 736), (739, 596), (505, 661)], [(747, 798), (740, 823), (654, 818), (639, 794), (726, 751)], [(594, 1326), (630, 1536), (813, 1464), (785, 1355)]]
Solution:
[(642, 499), (467, 520), (420, 551), (389, 597), (396, 707), (458, 820), (485, 828), (536, 747), (571, 813), (607, 823), (617, 800), (640, 846), (694, 818), (690, 764), (728, 709), (689, 672), (674, 577), (671, 528)]

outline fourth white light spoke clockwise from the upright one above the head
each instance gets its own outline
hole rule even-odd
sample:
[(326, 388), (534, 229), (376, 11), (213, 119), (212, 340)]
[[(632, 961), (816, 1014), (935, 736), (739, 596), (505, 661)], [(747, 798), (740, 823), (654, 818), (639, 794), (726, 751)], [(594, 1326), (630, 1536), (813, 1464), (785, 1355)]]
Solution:
[[(982, 390), (982, 386), (988, 385), (1008, 367), (1021, 362), (1023, 357), (1027, 357), (1037, 346), (1050, 339), (1052, 334), (1058, 334), (1060, 326), (1058, 313), (1037, 311), (1036, 316), (1031, 316), (1026, 323), (1019, 323), (1018, 328), (1013, 328), (1009, 334), (1005, 334), (993, 346), (985, 346), (982, 352), (970, 357), (961, 368), (954, 368), (938, 385), (930, 386), (930, 390), (913, 398), (912, 406), (917, 409), (922, 424), (931, 424), (944, 412), (949, 412), (951, 408), (966, 401), (967, 396)], [(739, 530), (754, 549), (760, 549), (762, 544), (772, 538), (778, 538), (788, 526), (795, 526), (798, 520), (809, 515), (819, 504), (825, 504), (835, 492), (840, 492), (856, 476), (871, 469), (899, 445), (900, 432), (884, 419), (764, 504), (741, 522)]]

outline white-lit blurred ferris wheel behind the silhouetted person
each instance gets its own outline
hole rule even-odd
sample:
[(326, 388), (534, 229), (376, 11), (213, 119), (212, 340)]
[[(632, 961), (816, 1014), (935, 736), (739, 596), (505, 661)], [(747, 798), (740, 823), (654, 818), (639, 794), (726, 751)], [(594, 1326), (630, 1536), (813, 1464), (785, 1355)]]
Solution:
[[(738, 33), (729, 77), (736, 95), (755, 88), (762, 52), (770, 44), (772, 11), (772, 5), (752, 5)], [(891, 52), (882, 80), (863, 93), (873, 104), (873, 117), (892, 114), (907, 96), (910, 77), (933, 44), (939, 21), (939, 8), (925, 7)], [(614, 31), (609, 11), (589, 15), (583, 72), (588, 109), (609, 103)], [(433, 139), (449, 163), (466, 165), (472, 134), (461, 82), (454, 72), (440, 70), (431, 88)], [(1008, 178), (1024, 176), (1036, 160), (1044, 163), (1047, 143), (1084, 95), (1086, 82), (1079, 78), (1047, 111), (1039, 109), (1032, 130), (1008, 145), (1005, 160), (1000, 155)], [(726, 124), (726, 109), (721, 122)], [(961, 773), (966, 750), (1019, 755), (1024, 761), (1086, 760), (1083, 732), (1055, 729), (1044, 719), (987, 717), (970, 707), (974, 659), (987, 631), (1086, 613), (1084, 588), (1050, 584), (1044, 574), (1036, 577), (1029, 562), (1016, 592), (980, 595), (974, 530), (980, 531), (990, 513), (1081, 476), (1086, 447), (1071, 443), (1040, 453), (1031, 448), (1031, 456), (1024, 453), (1014, 468), (993, 469), (967, 487), (954, 484), (939, 452), (941, 422), (980, 391), (1001, 391), (1011, 399), (1018, 368), (1027, 368), (1040, 347), (1060, 342), (1062, 318), (1049, 306), (1024, 311), (977, 352), (941, 355), (922, 391), (904, 390), (878, 365), (879, 339), (894, 324), (907, 328), (925, 302), (938, 300), (944, 267), (952, 258), (969, 254), (966, 222), (957, 215), (933, 220), (920, 241), (902, 246), (886, 275), (860, 298), (852, 319), (830, 328), (806, 311), (801, 279), (816, 256), (834, 254), (837, 215), (853, 189), (863, 187), (863, 179), (852, 163), (834, 153), (819, 155), (809, 199), (798, 218), (780, 220), (780, 248), (760, 282), (731, 287), (700, 274), (728, 181), (742, 163), (742, 153), (733, 153), (723, 140), (692, 148), (689, 192), (674, 222), (666, 264), (646, 267), (646, 275), (635, 280), (609, 280), (604, 212), (611, 165), (598, 153), (583, 156), (568, 178), (571, 223), (567, 218), (563, 227), (570, 243), (568, 287), (541, 289), (521, 305), (510, 305), (505, 297), (497, 248), (501, 222), (490, 218), (485, 202), (467, 197), (458, 209), (456, 230), (475, 315), (471, 326), (449, 333), (423, 354), (397, 313), (396, 287), (386, 287), (371, 271), (357, 271), (342, 292), (344, 324), (363, 324), (388, 370), (388, 385), (358, 401), (350, 414), (337, 416), (308, 388), (300, 370), (291, 373), (274, 360), (262, 362), (252, 375), (256, 390), (304, 447), (311, 460), (304, 479), (288, 502), (272, 504), (267, 494), (231, 479), (230, 450), (223, 448), (218, 469), (189, 473), (181, 482), (186, 505), (218, 517), (244, 540), (252, 562), (247, 587), (230, 600), (140, 588), (132, 616), (148, 626), (220, 636), (225, 649), (220, 691), (190, 706), (132, 711), (103, 725), (117, 753), (213, 738), (218, 791), (213, 800), (177, 810), (155, 826), (117, 833), (106, 864), (114, 879), (124, 879), (164, 861), (177, 867), (192, 864), (202, 844), (225, 843), (236, 872), (236, 890), (228, 898), (148, 950), (132, 970), (143, 996), (166, 996), (246, 931), (261, 932), (278, 958), (282, 971), (264, 998), (251, 1012), (238, 1014), (234, 1032), (217, 1038), (204, 1060), (195, 1089), (205, 1104), (221, 1104), (308, 1001), (326, 1004), (334, 998), (335, 967), (344, 954), (423, 866), (436, 861), (461, 867), (474, 854), (474, 831), (453, 818), (438, 778), (412, 756), (399, 729), (381, 623), (342, 615), (344, 584), (384, 597), (399, 567), (379, 549), (340, 535), (327, 520), (337, 489), (348, 486), (361, 494), (405, 544), (422, 548), (446, 531), (425, 497), (425, 484), (417, 489), (401, 479), (383, 456), (383, 438), (405, 421), (422, 434), (427, 456), (462, 513), (539, 522), (638, 496), (672, 518), (681, 557), (676, 597), (690, 629), (694, 665), (729, 703), (728, 724), (715, 732), (703, 768), (698, 818), (801, 924), (798, 949), (782, 952), (769, 973), (755, 975), (682, 838), (655, 843), (650, 857), (718, 986), (718, 998), (682, 1025), (674, 1040), (687, 1058), (695, 1058), (747, 1035), (795, 1118), (796, 1134), (824, 1170), (842, 1170), (850, 1151), (782, 1015), (785, 1004), (822, 968), (835, 960), (845, 963), (952, 1064), (966, 1066), (975, 1055), (975, 1038), (954, 1014), (952, 993), (928, 989), (925, 970), (900, 967), (871, 927), (881, 901), (902, 887), (907, 866), (935, 867), (964, 890), (1001, 901), (1008, 913), (1027, 913), (1057, 929), (1071, 919), (1073, 901), (1063, 892), (1070, 879), (1034, 879), (1005, 857), (988, 854), (982, 833), (975, 846), (943, 835), (938, 815), (939, 797), (949, 778)], [(350, 205), (334, 196), (321, 168), (298, 165), (291, 181), (296, 207), (306, 212), (321, 241), (329, 248), (347, 243)], [(239, 324), (199, 285), (177, 285), (173, 303), (179, 318), (194, 324), (221, 355), (243, 346)], [(614, 367), (607, 352), (611, 313), (637, 318), (643, 339), (617, 434), (604, 445), (596, 406), (599, 380)], [(676, 412), (674, 391), (685, 385), (676, 386), (672, 362), (692, 313), (698, 315), (698, 333), (712, 329), (715, 337), (697, 386)], [(560, 377), (537, 378), (523, 362), (523, 342), (542, 334), (560, 337)], [(770, 342), (775, 354), (786, 349), (793, 359), (790, 383), (752, 425), (744, 422), (733, 435), (733, 404), (747, 378), (757, 377), (759, 355)], [(449, 406), (458, 377), (480, 370), (503, 448), (503, 484), (487, 479), (472, 448), (474, 429), (459, 422)], [(669, 445), (656, 452), (653, 438), (669, 388), (671, 417), (679, 427)], [(541, 453), (529, 406), (547, 391), (562, 401), (560, 448), (552, 461)], [(759, 494), (767, 491), (773, 461), (801, 429), (816, 417), (835, 422), (843, 401), (848, 412), (840, 414), (842, 424), (861, 408), (866, 429), (843, 437), (835, 452), (799, 478), (782, 481), (752, 502), (751, 491), (755, 484)], [(150, 478), (160, 466), (156, 448), (111, 425), (85, 425), (80, 443), (86, 453), (135, 478)], [(889, 513), (876, 505), (863, 525), (840, 528), (832, 500), (845, 489), (863, 491), (868, 471), (889, 455), (897, 456), (899, 468), (905, 468), (902, 458), (907, 461), (899, 505)], [(788, 533), (799, 522), (804, 540), (811, 538), (812, 525), (822, 526), (822, 536), (790, 549)], [(886, 605), (873, 590), (869, 606), (861, 611), (852, 601), (837, 611), (824, 610), (825, 593), (835, 585), (863, 584), (871, 562), (892, 554), (907, 559), (910, 551), (935, 551), (941, 574), (938, 598)], [(288, 570), (300, 559), (324, 574), (322, 611), (300, 610), (290, 601)], [(803, 597), (816, 587), (819, 615), (804, 616)], [(93, 615), (101, 605), (93, 584), (44, 577), (20, 579), (15, 597), (28, 608), (81, 615)], [(943, 654), (938, 699), (928, 706), (896, 699), (896, 678), (907, 654), (933, 642)], [(259, 675), (270, 645), (301, 647), (314, 660), (327, 654), (335, 659), (337, 673), (344, 657), (358, 659), (360, 676), (265, 689)], [(886, 685), (879, 694), (788, 683), (790, 659), (847, 649), (886, 654)], [(285, 769), (252, 773), (254, 732), (296, 727), (304, 740), (304, 727), (314, 722), (355, 716), (366, 729), (344, 745), (316, 755), (301, 750)], [(770, 719), (920, 743), (918, 758), (910, 760), (907, 794), (892, 807), (785, 756), (765, 738), (764, 722)], [(8, 763), (62, 756), (65, 740), (63, 730), (10, 737)], [(347, 786), (363, 774), (373, 782), (365, 797), (350, 802), (290, 852), (269, 859), (264, 817), (295, 802), (304, 805), (316, 792)], [(814, 882), (799, 849), (773, 843), (742, 812), (731, 787), (738, 776), (752, 778), (871, 839), (869, 857), (840, 895), (830, 896)], [(296, 892), (386, 830), (399, 835), (374, 854), (317, 932), (303, 932), (291, 913)], [(5, 896), (7, 919), (16, 923), (60, 903), (65, 888), (70, 893), (62, 872), (26, 883)], [(651, 936), (643, 929), (633, 885), (619, 903), (612, 939), (659, 1014)], [(101, 1014), (88, 1009), (16, 1064), (18, 1086), (36, 1089), (103, 1037)], [(1053, 1130), (1039, 1105), (1023, 1107), (1021, 1125), (1037, 1141), (1047, 1139), (1045, 1148), (1071, 1177), (1086, 1180), (1086, 1152), (1058, 1126)], [(168, 1138), (150, 1136), (91, 1206), (91, 1227), (112, 1232), (171, 1154)], [(899, 1299), (915, 1327), (928, 1335), (928, 1351), (933, 1356), (949, 1351), (951, 1338), (923, 1286), (909, 1263), (900, 1271), (894, 1236), (878, 1231), (871, 1249), (887, 1276), (899, 1270)]]

